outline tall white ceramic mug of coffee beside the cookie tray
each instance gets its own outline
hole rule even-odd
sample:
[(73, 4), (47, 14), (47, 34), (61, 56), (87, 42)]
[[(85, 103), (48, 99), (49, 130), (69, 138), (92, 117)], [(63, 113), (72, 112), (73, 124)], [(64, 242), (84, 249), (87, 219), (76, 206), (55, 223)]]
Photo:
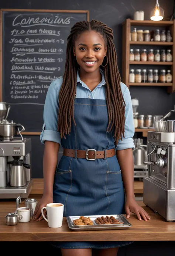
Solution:
[[(47, 218), (43, 214), (43, 210), (47, 211)], [(59, 203), (47, 204), (46, 207), (42, 207), (41, 213), (43, 218), (48, 222), (49, 228), (60, 228), (63, 221), (64, 205)]]

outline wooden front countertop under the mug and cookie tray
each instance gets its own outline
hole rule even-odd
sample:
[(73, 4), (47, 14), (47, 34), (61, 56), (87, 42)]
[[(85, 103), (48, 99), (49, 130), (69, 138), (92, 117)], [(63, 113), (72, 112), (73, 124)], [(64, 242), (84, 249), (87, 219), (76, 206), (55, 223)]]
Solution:
[[(66, 218), (61, 228), (49, 228), (45, 220), (6, 224), (5, 215), (14, 212), (16, 201), (0, 202), (0, 241), (174, 241), (175, 222), (167, 222), (143, 202), (138, 202), (150, 214), (150, 221), (139, 221), (134, 214), (128, 219), (129, 229), (103, 231), (72, 231)], [(20, 204), (24, 205), (24, 201)]]

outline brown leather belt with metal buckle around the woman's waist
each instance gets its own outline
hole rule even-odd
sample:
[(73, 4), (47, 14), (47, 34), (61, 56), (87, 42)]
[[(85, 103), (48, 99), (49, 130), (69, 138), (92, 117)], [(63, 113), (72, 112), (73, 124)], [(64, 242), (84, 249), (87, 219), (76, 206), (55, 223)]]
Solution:
[(97, 151), (95, 149), (79, 150), (79, 149), (63, 149), (63, 155), (74, 158), (86, 158), (87, 160), (94, 161), (99, 158), (115, 156), (115, 149)]

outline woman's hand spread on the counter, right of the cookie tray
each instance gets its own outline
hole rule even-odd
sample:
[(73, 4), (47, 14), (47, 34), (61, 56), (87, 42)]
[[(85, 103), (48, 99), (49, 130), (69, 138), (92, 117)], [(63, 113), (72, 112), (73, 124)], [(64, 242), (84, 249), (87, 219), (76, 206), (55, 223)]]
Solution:
[(133, 212), (137, 215), (140, 221), (141, 221), (141, 217), (144, 219), (144, 221), (151, 219), (150, 216), (147, 214), (147, 212), (137, 204), (137, 202), (135, 201), (135, 198), (126, 199), (125, 211), (126, 211), (127, 218), (130, 217), (130, 212)]

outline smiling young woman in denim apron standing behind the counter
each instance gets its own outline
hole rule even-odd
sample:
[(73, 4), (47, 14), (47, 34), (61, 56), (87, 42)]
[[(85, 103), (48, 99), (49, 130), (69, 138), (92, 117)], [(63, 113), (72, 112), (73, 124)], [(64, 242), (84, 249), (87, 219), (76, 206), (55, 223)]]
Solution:
[[(147, 221), (133, 189), (134, 122), (130, 92), (120, 82), (113, 31), (100, 21), (80, 21), (67, 42), (64, 76), (52, 81), (41, 141), (44, 193), (33, 219), (51, 202), (64, 216), (130, 212)], [(60, 144), (64, 153), (58, 164)], [(131, 242), (55, 242), (63, 256), (116, 256)]]

